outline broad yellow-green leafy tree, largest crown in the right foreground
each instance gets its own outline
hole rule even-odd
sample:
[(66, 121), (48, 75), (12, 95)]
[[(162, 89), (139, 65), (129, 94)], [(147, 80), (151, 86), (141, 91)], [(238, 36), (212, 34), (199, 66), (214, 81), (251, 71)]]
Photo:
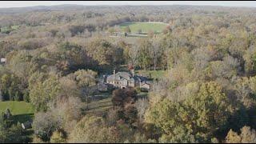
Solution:
[(155, 103), (146, 112), (146, 122), (160, 128), (164, 139), (175, 139), (178, 135), (174, 132), (182, 129), (185, 135), (191, 135), (189, 139), (207, 142), (216, 131), (222, 132), (229, 114), (229, 104), (222, 88), (215, 82), (207, 82), (200, 86), (198, 94), (192, 94), (184, 102), (164, 98)]

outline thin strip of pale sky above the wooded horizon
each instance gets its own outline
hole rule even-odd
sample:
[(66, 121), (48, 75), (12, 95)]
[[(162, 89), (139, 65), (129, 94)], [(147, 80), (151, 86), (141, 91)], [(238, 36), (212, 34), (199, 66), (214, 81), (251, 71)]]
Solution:
[(76, 4), (95, 5), (196, 5), (196, 6), (246, 6), (256, 7), (254, 1), (0, 1), (0, 8), (26, 6), (54, 6)]

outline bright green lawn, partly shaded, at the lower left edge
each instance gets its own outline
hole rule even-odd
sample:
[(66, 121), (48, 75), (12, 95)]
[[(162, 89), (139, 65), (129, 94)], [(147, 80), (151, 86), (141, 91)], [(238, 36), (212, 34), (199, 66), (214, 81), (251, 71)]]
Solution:
[(33, 118), (34, 109), (28, 102), (0, 102), (0, 112), (2, 113), (6, 109), (10, 109), (11, 114), (14, 116), (15, 122), (26, 122)]

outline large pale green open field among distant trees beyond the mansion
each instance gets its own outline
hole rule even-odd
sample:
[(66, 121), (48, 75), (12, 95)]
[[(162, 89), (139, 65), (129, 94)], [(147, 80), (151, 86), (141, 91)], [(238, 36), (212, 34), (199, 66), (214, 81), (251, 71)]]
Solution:
[(150, 30), (161, 33), (168, 24), (160, 22), (124, 22), (120, 25), (120, 28), (125, 30), (126, 26), (130, 27), (131, 33), (138, 33), (138, 30), (142, 30), (142, 33), (148, 33)]

